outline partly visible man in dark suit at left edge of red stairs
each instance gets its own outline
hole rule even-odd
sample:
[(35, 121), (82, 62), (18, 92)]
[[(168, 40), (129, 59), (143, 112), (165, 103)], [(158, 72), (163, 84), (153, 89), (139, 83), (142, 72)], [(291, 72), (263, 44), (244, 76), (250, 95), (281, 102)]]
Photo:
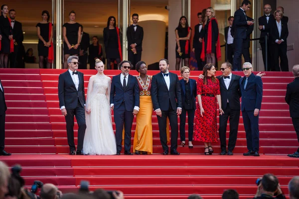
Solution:
[(5, 140), (5, 111), (7, 110), (4, 89), (0, 80), (0, 156), (10, 156), (11, 153), (4, 151), (4, 140)]

